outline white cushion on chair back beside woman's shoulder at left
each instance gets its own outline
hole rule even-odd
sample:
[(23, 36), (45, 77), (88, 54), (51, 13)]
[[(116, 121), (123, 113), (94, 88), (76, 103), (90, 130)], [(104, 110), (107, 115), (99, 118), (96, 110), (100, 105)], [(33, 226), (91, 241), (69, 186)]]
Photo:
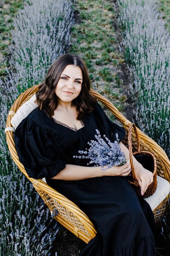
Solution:
[(20, 122), (31, 113), (35, 108), (37, 108), (37, 103), (35, 103), (36, 95), (34, 94), (28, 101), (26, 101), (11, 118), (11, 125), (14, 129), (20, 124)]

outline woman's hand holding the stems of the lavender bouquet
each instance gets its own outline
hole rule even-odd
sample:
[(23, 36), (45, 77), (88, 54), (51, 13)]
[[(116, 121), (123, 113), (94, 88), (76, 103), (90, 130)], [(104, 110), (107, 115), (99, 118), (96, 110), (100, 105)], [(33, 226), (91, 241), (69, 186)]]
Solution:
[(107, 176), (128, 176), (131, 172), (130, 161), (128, 160), (126, 164), (121, 166), (112, 166), (106, 169), (104, 175)]

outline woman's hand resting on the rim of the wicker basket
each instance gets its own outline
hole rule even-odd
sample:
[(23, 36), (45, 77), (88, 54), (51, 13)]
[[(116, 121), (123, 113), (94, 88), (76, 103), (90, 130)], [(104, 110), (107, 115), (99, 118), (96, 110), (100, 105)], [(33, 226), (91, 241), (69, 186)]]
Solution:
[(135, 176), (141, 187), (141, 195), (144, 195), (148, 186), (153, 182), (153, 174), (140, 165), (135, 169)]

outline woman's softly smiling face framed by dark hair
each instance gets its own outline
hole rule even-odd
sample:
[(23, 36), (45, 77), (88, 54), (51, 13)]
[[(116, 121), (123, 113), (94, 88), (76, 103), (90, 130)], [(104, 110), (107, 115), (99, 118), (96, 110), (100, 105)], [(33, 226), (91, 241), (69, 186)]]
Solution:
[(55, 94), (59, 103), (71, 102), (82, 89), (83, 74), (80, 67), (67, 65), (57, 83)]

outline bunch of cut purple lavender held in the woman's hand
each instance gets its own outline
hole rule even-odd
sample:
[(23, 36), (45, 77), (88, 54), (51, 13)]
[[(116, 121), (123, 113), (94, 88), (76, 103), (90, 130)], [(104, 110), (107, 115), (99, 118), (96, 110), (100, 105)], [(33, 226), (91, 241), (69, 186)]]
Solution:
[[(117, 140), (111, 142), (106, 135), (103, 135), (102, 139), (99, 130), (96, 129), (97, 135), (95, 135), (95, 140), (88, 142), (90, 148), (86, 151), (79, 150), (79, 156), (74, 155), (73, 158), (86, 158), (91, 161), (88, 164), (94, 164), (93, 166), (101, 166), (102, 171), (112, 167), (121, 166), (126, 164), (126, 157), (121, 151), (119, 146), (118, 134), (116, 133)], [(84, 155), (83, 155), (84, 154)]]

